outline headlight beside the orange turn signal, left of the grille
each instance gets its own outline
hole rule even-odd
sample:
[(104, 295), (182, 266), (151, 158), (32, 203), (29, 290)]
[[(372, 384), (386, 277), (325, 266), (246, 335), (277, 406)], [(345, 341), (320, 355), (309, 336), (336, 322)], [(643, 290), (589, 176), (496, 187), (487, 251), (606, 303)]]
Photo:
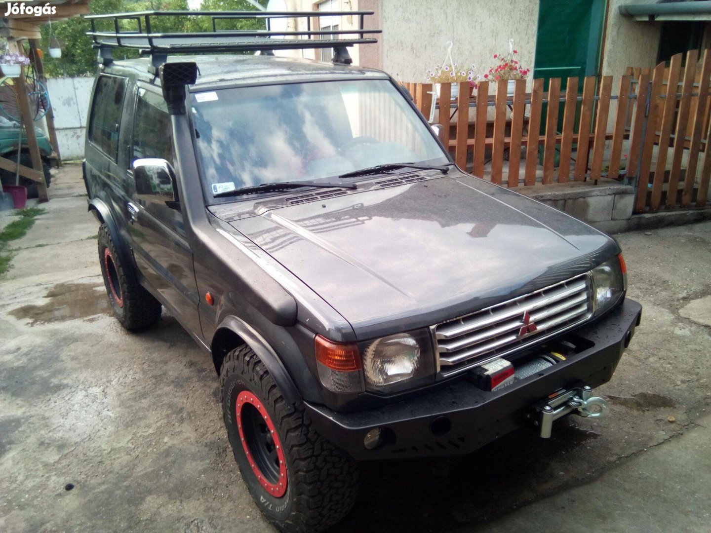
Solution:
[(434, 379), (429, 330), (397, 333), (360, 343), (365, 388), (388, 393)]

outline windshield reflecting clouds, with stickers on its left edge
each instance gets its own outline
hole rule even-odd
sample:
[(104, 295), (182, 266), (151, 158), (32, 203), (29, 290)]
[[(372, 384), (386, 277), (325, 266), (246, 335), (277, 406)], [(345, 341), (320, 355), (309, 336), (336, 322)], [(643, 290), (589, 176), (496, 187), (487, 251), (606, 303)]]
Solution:
[[(208, 203), (250, 185), (334, 178), (384, 163), (447, 163), (388, 80), (235, 87), (193, 95)], [(336, 178), (338, 179), (338, 178)]]

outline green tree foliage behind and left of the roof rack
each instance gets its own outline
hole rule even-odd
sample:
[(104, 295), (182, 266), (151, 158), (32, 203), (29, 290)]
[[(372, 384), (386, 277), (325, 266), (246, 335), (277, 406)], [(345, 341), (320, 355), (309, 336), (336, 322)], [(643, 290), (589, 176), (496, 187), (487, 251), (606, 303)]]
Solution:
[[(267, 0), (260, 0), (264, 6)], [(187, 0), (92, 0), (89, 4), (92, 14), (123, 13), (127, 11), (186, 11), (188, 9)], [(247, 0), (203, 0), (201, 10), (205, 11), (255, 11)], [(156, 21), (154, 31), (159, 32), (181, 32), (181, 31), (211, 31), (212, 22), (209, 17), (155, 17), (151, 21)], [(113, 27), (100, 26), (98, 30), (113, 31)], [(124, 21), (123, 29), (137, 30), (135, 22)], [(263, 21), (224, 21), (218, 24), (218, 29), (262, 29)], [(62, 57), (59, 59), (50, 58), (49, 54), (44, 55), (43, 63), (48, 77), (59, 76), (82, 76), (93, 75), (96, 72), (97, 50), (92, 48), (92, 40), (85, 35), (90, 29), (89, 21), (83, 18), (70, 18), (68, 21), (58, 22), (52, 25), (52, 35), (62, 45)], [(50, 39), (50, 27), (44, 25), (42, 31), (43, 50), (48, 48)], [(134, 50), (117, 49), (114, 50), (114, 59), (129, 59), (138, 57)]]

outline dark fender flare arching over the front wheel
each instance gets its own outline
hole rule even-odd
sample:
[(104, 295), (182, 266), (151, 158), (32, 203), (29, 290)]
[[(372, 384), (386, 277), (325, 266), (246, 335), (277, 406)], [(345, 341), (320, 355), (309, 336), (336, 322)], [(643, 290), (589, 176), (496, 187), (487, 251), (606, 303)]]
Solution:
[(234, 350), (241, 345), (247, 345), (254, 350), (282, 391), (282, 396), (287, 404), (292, 405), (301, 398), (299, 389), (296, 388), (294, 380), (287, 372), (282, 361), (279, 360), (277, 352), (269, 346), (269, 343), (254, 328), (236, 316), (228, 316), (220, 323), (210, 343), (213, 364), (218, 375), (225, 355), (230, 350)]

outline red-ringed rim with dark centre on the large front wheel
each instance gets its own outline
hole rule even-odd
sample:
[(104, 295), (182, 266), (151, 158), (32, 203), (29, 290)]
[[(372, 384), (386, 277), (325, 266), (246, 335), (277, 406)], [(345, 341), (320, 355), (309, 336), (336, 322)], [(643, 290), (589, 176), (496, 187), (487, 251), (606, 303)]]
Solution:
[(235, 412), (247, 461), (262, 488), (274, 497), (287, 492), (287, 463), (279, 434), (267, 409), (249, 391), (237, 395)]

